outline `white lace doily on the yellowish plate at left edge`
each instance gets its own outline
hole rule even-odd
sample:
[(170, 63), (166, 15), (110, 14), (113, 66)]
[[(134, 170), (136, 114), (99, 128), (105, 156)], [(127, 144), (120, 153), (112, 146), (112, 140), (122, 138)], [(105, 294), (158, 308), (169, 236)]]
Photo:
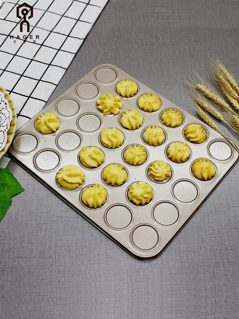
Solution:
[(12, 110), (8, 101), (5, 99), (4, 93), (0, 91), (0, 151), (7, 143), (7, 131), (10, 128), (12, 120)]

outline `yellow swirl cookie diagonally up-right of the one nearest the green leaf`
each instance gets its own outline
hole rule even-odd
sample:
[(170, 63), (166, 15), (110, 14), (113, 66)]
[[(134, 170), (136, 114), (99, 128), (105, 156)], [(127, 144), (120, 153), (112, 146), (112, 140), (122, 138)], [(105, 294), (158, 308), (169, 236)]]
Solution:
[(85, 167), (93, 168), (100, 166), (104, 160), (104, 153), (95, 146), (92, 147), (83, 147), (79, 152), (80, 161)]

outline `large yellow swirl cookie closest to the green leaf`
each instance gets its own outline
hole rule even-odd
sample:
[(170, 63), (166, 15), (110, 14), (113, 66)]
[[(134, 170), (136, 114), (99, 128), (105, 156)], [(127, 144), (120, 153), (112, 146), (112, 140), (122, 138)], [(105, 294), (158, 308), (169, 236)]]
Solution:
[(66, 165), (57, 173), (57, 182), (65, 189), (75, 189), (85, 181), (85, 173), (78, 166)]

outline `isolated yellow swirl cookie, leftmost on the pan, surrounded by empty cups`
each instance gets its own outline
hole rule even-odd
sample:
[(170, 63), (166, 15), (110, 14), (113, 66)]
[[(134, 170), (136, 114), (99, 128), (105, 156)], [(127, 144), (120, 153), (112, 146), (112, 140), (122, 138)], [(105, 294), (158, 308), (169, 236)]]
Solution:
[(36, 129), (42, 134), (51, 134), (55, 132), (60, 127), (60, 121), (58, 116), (53, 113), (41, 114), (36, 120)]

